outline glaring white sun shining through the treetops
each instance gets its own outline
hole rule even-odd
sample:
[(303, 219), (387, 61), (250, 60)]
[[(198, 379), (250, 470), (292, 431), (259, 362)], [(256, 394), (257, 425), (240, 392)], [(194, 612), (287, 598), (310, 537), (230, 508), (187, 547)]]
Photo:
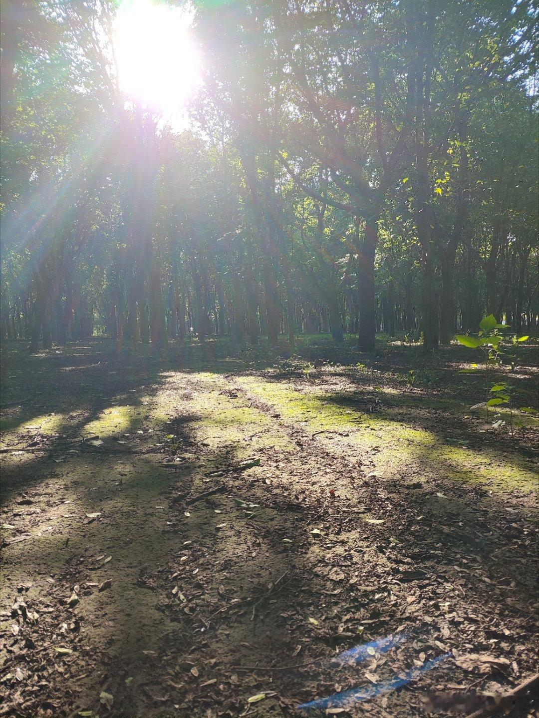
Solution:
[(113, 28), (118, 84), (131, 101), (173, 118), (200, 83), (192, 13), (165, 1), (123, 0)]

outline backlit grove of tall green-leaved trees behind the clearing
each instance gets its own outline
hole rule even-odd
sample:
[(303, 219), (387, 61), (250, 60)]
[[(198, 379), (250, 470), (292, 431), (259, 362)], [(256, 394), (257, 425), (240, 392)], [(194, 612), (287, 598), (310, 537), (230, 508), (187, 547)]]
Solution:
[(533, 0), (197, 2), (182, 131), (115, 9), (3, 5), (1, 337), (537, 332)]

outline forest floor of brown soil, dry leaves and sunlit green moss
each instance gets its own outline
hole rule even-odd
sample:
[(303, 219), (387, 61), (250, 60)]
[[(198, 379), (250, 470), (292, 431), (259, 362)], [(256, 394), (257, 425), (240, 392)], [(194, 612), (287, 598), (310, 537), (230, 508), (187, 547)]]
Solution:
[[(537, 406), (522, 353), (511, 381)], [(538, 426), (517, 412), (511, 439), (470, 410), (475, 359), (358, 355), (352, 337), (288, 359), (5, 342), (0, 715), (301, 716), (410, 668), (329, 714), (463, 715), (520, 684), (537, 670)]]

